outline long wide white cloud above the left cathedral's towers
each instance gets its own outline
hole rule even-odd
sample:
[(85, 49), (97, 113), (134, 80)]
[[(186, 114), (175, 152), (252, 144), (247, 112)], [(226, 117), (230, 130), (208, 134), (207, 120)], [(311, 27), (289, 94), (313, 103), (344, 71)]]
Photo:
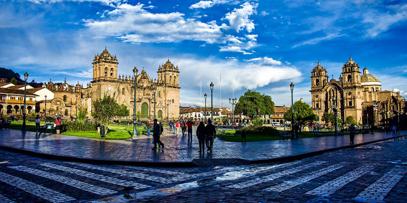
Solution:
[(143, 4), (121, 4), (106, 14), (106, 20), (84, 20), (96, 37), (114, 36), (130, 43), (194, 40), (209, 44), (223, 37), (216, 21), (185, 19), (179, 12), (151, 13), (143, 9)]

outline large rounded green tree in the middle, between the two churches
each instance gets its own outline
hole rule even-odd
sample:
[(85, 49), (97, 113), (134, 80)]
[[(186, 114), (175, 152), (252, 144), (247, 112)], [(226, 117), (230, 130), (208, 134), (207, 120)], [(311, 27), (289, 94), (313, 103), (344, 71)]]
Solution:
[(243, 96), (240, 96), (235, 106), (235, 114), (239, 113), (250, 118), (256, 115), (271, 115), (274, 114), (274, 103), (271, 96), (249, 89)]

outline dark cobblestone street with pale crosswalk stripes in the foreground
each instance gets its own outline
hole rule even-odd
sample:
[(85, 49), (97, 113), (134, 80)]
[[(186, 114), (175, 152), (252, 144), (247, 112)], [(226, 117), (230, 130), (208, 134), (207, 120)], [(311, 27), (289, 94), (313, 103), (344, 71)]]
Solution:
[(406, 202), (407, 140), (292, 162), (97, 165), (0, 151), (0, 202)]

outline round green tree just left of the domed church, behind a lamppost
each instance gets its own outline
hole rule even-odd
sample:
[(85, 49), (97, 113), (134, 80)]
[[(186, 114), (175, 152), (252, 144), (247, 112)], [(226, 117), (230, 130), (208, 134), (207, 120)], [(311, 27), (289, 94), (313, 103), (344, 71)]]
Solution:
[[(312, 122), (315, 119), (315, 114), (312, 111), (311, 107), (302, 101), (296, 101), (294, 103), (294, 120), (299, 125), (306, 124), (308, 122)], [(291, 109), (287, 110), (284, 113), (284, 119), (290, 122), (293, 122)]]

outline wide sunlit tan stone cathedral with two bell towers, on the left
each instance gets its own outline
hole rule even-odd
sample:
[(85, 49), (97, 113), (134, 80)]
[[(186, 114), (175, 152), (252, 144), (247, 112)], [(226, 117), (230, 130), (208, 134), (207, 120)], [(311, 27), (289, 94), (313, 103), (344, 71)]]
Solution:
[[(85, 105), (88, 116), (91, 117), (92, 100), (102, 98), (104, 95), (112, 96), (119, 105), (124, 104), (130, 110), (129, 119), (133, 118), (134, 80), (136, 88), (136, 113), (141, 120), (156, 117), (158, 120), (177, 119), (180, 115), (180, 89), (178, 65), (174, 66), (169, 59), (158, 67), (158, 78), (154, 80), (147, 75), (144, 67), (138, 71), (134, 78), (118, 75), (118, 59), (112, 56), (105, 48), (101, 54), (93, 59), (93, 80), (83, 87), (79, 83), (75, 86), (49, 81), (43, 87), (54, 93), (52, 99), (40, 101), (38, 111), (47, 113), (61, 113), (65, 118), (75, 118), (76, 108)], [(137, 69), (134, 67), (134, 69)], [(155, 103), (154, 103), (155, 101)], [(155, 114), (154, 114), (155, 113)], [(167, 116), (168, 115), (168, 116)]]

